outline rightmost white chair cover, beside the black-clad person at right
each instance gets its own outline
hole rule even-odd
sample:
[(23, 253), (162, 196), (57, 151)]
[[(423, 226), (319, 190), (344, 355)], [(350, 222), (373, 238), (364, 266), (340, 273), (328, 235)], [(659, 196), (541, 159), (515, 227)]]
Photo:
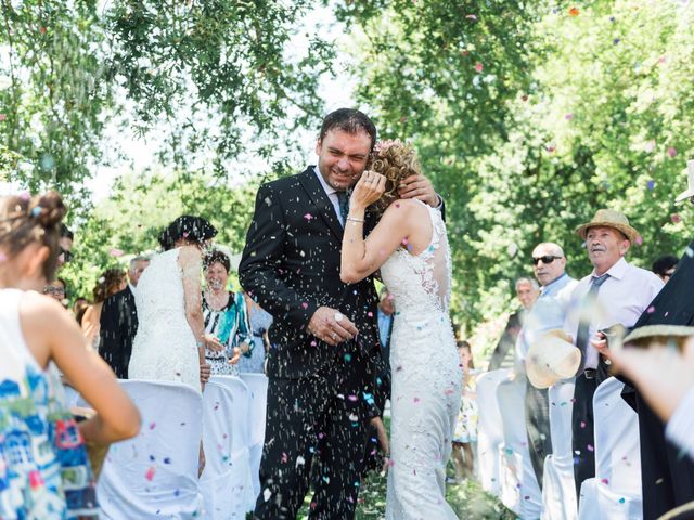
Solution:
[(639, 418), (621, 399), (622, 387), (611, 377), (593, 395), (595, 478), (581, 485), (579, 519), (643, 518)]

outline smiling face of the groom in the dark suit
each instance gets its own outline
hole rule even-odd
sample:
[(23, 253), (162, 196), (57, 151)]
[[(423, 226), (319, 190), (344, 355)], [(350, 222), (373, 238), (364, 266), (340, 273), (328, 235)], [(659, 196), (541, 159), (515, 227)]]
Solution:
[(371, 136), (367, 132), (329, 130), (316, 143), (318, 169), (327, 184), (342, 192), (357, 183), (367, 167), (370, 151)]

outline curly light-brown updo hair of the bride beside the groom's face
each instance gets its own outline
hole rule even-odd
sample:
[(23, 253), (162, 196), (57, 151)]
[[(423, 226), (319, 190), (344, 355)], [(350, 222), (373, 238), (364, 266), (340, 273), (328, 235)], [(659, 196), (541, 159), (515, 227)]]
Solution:
[(386, 191), (372, 206), (378, 216), (383, 214), (394, 200), (400, 198), (398, 186), (402, 179), (419, 176), (422, 171), (414, 148), (400, 141), (377, 142), (367, 169), (386, 178)]

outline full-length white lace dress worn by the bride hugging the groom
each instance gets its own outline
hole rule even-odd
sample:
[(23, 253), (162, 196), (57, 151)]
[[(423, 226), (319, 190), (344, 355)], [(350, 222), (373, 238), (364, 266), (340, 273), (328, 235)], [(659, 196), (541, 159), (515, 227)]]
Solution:
[(458, 519), (446, 503), (463, 373), (448, 316), (451, 260), (440, 212), (428, 209), (432, 243), (419, 256), (398, 249), (381, 266), (395, 298), (390, 342), (390, 468), (387, 520)]

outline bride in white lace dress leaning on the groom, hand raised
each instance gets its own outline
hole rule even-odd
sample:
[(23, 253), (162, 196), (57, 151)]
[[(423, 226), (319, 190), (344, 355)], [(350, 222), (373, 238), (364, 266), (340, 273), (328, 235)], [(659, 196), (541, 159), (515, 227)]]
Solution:
[[(446, 503), (446, 464), (463, 373), (448, 315), (451, 260), (446, 226), (438, 210), (397, 198), (400, 181), (420, 172), (412, 147), (395, 142), (376, 154), (350, 198), (340, 276), (355, 283), (381, 269), (397, 309), (390, 341), (386, 519), (457, 519)], [(364, 239), (365, 208), (372, 203), (381, 217)]]

